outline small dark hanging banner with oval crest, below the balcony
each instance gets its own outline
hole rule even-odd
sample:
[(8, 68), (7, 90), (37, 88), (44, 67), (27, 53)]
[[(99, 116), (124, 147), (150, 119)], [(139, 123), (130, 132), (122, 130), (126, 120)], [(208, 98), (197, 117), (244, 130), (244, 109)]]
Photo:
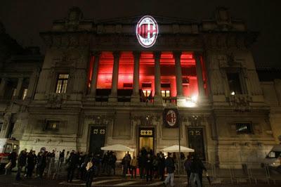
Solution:
[(164, 126), (168, 128), (178, 127), (178, 110), (165, 108), (163, 113)]

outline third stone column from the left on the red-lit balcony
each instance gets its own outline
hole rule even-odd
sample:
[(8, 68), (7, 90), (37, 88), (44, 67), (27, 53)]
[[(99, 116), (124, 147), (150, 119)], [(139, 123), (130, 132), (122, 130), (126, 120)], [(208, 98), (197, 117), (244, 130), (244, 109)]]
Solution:
[(133, 94), (131, 96), (131, 102), (140, 102), (140, 52), (133, 52), (133, 59)]

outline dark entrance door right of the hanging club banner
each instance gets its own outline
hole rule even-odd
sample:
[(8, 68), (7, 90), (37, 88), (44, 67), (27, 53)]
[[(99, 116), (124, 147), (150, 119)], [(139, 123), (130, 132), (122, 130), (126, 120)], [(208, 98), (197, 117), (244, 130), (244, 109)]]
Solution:
[(202, 128), (188, 128), (188, 146), (195, 150), (200, 159), (205, 160)]

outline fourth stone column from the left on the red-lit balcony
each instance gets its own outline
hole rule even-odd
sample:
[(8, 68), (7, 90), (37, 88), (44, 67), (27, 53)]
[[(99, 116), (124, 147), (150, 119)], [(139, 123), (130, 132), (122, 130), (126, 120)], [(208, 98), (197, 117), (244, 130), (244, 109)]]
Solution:
[(154, 94), (154, 102), (162, 103), (162, 94), (161, 94), (161, 71), (160, 71), (160, 52), (155, 52), (155, 94)]

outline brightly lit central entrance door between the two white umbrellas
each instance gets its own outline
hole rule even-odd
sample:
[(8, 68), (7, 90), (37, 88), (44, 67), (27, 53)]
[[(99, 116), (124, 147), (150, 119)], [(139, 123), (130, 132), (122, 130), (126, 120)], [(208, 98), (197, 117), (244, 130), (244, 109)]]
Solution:
[(152, 150), (154, 152), (154, 128), (140, 128), (138, 129), (138, 148), (141, 150)]

